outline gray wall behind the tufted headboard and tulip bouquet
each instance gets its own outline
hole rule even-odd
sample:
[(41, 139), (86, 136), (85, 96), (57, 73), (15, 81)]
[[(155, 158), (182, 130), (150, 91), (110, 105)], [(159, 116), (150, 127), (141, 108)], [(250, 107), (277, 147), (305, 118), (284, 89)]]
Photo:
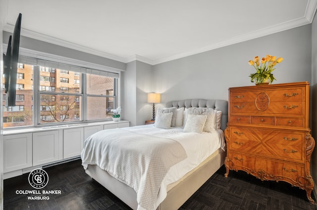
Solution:
[(311, 25), (155, 65), (161, 102), (187, 98), (228, 99), (228, 87), (255, 85), (248, 64), (254, 56), (283, 57), (273, 74), (278, 83), (311, 82)]

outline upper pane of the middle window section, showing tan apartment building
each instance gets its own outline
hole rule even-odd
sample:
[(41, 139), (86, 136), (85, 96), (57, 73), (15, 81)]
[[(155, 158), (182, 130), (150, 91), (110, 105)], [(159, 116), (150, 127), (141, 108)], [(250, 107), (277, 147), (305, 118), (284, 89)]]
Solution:
[(81, 75), (77, 72), (41, 66), (40, 91), (81, 93)]

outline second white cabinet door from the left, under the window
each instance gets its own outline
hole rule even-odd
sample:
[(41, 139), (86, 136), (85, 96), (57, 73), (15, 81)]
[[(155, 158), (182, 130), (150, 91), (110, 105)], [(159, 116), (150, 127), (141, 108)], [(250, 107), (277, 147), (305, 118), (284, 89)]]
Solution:
[(58, 160), (58, 131), (33, 133), (33, 166)]

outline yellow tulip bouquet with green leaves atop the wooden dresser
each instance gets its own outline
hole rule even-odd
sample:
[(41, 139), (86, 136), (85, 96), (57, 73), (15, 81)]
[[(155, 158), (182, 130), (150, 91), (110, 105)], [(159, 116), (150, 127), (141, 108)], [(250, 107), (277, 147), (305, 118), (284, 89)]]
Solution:
[(257, 72), (250, 74), (251, 82), (256, 84), (265, 83), (266, 81), (273, 82), (276, 80), (272, 74), (272, 71), (275, 70), (274, 66), (277, 63), (282, 62), (283, 58), (279, 57), (276, 59), (276, 56), (266, 55), (266, 57), (261, 59), (261, 65), (259, 62), (259, 56), (255, 56), (254, 60), (249, 60), (249, 64), (253, 66)]

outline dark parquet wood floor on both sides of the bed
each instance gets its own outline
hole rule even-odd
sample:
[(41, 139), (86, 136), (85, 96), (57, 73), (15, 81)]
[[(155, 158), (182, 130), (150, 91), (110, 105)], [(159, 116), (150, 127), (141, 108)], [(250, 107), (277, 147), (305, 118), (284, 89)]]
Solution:
[[(16, 190), (34, 190), (28, 174), (4, 180), (4, 210), (130, 210), (123, 202), (92, 180), (76, 160), (50, 168), (44, 190), (61, 190), (49, 200), (28, 200)], [(219, 170), (180, 210), (317, 210), (306, 191), (284, 182), (261, 181), (243, 171)], [(41, 190), (43, 190), (41, 189)], [(314, 200), (315, 197), (313, 196)]]

